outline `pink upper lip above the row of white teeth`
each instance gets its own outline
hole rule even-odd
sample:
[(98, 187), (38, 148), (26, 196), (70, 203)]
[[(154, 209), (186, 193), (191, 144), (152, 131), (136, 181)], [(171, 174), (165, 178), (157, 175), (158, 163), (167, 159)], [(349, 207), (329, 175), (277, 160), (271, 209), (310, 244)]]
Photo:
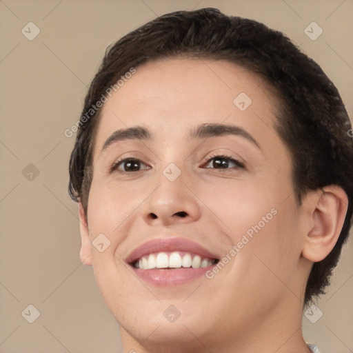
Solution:
[(219, 260), (219, 256), (210, 252), (202, 245), (184, 238), (159, 238), (146, 241), (136, 249), (132, 250), (126, 258), (127, 263), (134, 263), (142, 256), (156, 252), (185, 251), (193, 252), (201, 257)]

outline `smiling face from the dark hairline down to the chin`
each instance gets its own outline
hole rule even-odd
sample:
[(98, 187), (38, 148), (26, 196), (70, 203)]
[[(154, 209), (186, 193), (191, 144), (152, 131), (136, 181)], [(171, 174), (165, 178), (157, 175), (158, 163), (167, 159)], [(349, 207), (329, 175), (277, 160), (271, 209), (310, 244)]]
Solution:
[(141, 65), (103, 106), (81, 258), (125, 341), (212, 347), (301, 306), (275, 107), (261, 78), (201, 59)]

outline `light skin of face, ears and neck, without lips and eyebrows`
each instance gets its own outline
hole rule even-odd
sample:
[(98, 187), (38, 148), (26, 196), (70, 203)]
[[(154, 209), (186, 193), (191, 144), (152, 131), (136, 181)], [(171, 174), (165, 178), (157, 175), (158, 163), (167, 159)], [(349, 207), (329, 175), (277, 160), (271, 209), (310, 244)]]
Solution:
[[(240, 92), (252, 99), (243, 112), (233, 103)], [(103, 106), (87, 214), (79, 203), (80, 254), (120, 324), (124, 352), (309, 352), (301, 334), (305, 283), (312, 262), (336, 243), (347, 196), (329, 185), (296, 203), (290, 153), (274, 130), (277, 105), (248, 70), (183, 58), (139, 66)], [(188, 138), (203, 123), (241, 127), (259, 148), (232, 134)], [(151, 139), (126, 139), (101, 153), (114, 131), (137, 125)], [(229, 160), (214, 168), (210, 159), (222, 154), (245, 168)], [(143, 162), (141, 170), (110, 172), (124, 157)], [(181, 170), (172, 182), (163, 175), (170, 163)], [(276, 215), (212, 279), (161, 288), (125, 263), (145, 241), (176, 236), (222, 257), (272, 209)], [(92, 246), (101, 233), (110, 240), (103, 252)], [(163, 316), (170, 305), (181, 313), (174, 323)]]

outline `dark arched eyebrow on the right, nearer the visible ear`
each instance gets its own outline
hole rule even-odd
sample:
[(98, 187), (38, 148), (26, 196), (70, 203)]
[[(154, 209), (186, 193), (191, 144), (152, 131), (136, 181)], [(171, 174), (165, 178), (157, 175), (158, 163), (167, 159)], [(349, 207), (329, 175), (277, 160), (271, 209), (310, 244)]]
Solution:
[(243, 128), (240, 128), (239, 126), (236, 126), (236, 125), (205, 123), (192, 129), (189, 133), (189, 138), (202, 139), (205, 137), (216, 137), (216, 136), (222, 136), (226, 134), (233, 134), (233, 135), (245, 137), (245, 139), (248, 139), (248, 141), (256, 145), (256, 147), (261, 150), (261, 147), (259, 143), (256, 141), (256, 139), (254, 139), (254, 137), (252, 137), (252, 135), (249, 134), (249, 132), (245, 131)]

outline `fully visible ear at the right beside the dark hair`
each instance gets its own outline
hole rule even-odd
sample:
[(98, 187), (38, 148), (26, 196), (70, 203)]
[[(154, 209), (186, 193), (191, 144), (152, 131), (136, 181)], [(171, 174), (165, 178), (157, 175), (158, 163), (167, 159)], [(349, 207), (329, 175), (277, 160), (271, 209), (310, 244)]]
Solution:
[(345, 221), (348, 198), (344, 190), (337, 185), (310, 193), (309, 199), (312, 210), (310, 212), (310, 230), (305, 235), (302, 255), (312, 261), (319, 262), (330, 254)]

